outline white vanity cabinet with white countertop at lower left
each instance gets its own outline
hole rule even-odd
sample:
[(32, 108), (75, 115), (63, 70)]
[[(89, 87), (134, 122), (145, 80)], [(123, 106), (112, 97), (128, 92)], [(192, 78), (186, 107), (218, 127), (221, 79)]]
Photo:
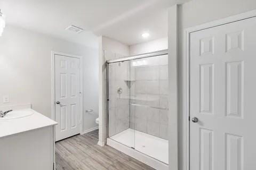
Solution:
[(10, 120), (0, 118), (0, 169), (52, 170), (57, 123), (31, 108), (21, 110), (33, 114)]

